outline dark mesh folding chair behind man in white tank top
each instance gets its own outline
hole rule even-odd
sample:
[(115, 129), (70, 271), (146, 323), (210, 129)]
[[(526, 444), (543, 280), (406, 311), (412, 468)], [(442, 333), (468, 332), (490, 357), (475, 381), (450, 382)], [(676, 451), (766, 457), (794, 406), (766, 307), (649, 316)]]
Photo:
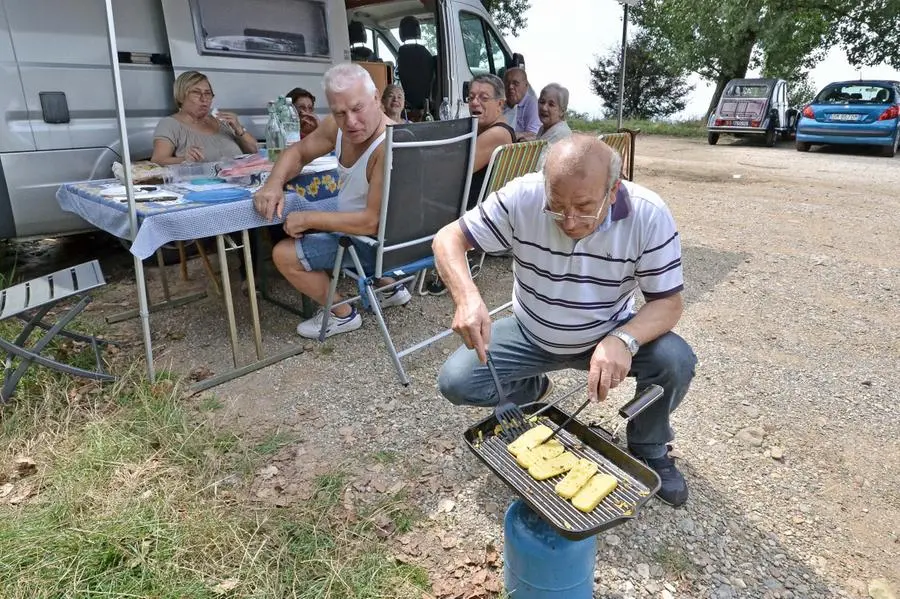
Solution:
[[(477, 120), (472, 118), (390, 125), (384, 140), (384, 194), (377, 238), (357, 237), (375, 250), (375, 269), (366, 272), (349, 236), (340, 240), (319, 340), (324, 341), (331, 309), (361, 299), (378, 319), (400, 382), (409, 384), (400, 358), (427, 346), (435, 339), (400, 352), (388, 332), (376, 292), (391, 289), (434, 268), (431, 242), (445, 225), (465, 211), (472, 165), (475, 162)], [(350, 264), (344, 267), (344, 253)], [(341, 272), (356, 280), (359, 295), (333, 303)], [(397, 279), (376, 289), (382, 277)]]

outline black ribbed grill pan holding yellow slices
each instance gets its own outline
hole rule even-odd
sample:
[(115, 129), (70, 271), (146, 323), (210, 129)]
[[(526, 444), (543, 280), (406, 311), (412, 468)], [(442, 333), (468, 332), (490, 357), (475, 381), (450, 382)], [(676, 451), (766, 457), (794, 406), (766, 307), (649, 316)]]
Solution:
[[(522, 406), (522, 411), (531, 414), (545, 406), (544, 403), (533, 403)], [(568, 414), (552, 406), (538, 417), (538, 422), (556, 429), (567, 418)], [(497, 424), (497, 419), (491, 415), (466, 430), (464, 438), (469, 449), (521, 495), (531, 509), (568, 539), (578, 541), (623, 524), (637, 516), (638, 510), (659, 490), (659, 476), (653, 470), (601, 433), (573, 419), (556, 438), (566, 451), (591, 460), (599, 466), (599, 472), (611, 474), (619, 481), (615, 491), (592, 512), (585, 514), (553, 490), (564, 474), (538, 481), (516, 463), (516, 458), (506, 449), (506, 442), (494, 434)]]

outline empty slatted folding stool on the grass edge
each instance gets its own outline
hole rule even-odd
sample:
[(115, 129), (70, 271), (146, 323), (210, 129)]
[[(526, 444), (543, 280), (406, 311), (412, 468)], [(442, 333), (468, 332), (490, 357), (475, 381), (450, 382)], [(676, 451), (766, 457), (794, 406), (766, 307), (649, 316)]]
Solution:
[[(100, 381), (115, 378), (103, 369), (99, 346), (106, 344), (105, 341), (66, 330), (66, 326), (90, 303), (90, 291), (104, 285), (106, 281), (100, 271), (100, 263), (92, 260), (0, 291), (0, 321), (15, 316), (25, 322), (25, 327), (15, 340), (7, 341), (0, 337), (0, 350), (6, 353), (0, 402), (6, 402), (12, 397), (16, 385), (32, 363)], [(70, 298), (77, 302), (68, 312), (62, 314), (53, 325), (44, 322), (44, 317), (51, 309)], [(34, 345), (28, 347), (26, 342), (35, 328), (42, 329), (45, 333)], [(96, 370), (85, 370), (42, 356), (41, 352), (57, 335), (90, 343), (97, 362)]]

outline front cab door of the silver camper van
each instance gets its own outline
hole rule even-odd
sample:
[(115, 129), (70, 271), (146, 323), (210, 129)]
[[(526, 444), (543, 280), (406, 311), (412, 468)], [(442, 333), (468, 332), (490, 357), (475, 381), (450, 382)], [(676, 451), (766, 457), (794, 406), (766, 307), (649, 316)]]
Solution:
[(469, 106), (463, 94), (465, 84), (476, 75), (491, 73), (503, 77), (512, 64), (512, 54), (481, 2), (470, 0), (446, 0), (448, 16), (453, 26), (450, 43), (450, 89), (460, 116), (469, 115)]

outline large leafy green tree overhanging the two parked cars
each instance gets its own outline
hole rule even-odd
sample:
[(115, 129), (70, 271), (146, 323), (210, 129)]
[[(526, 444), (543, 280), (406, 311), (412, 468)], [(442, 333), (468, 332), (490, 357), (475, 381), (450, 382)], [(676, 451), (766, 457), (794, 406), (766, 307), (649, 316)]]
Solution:
[(854, 64), (900, 65), (897, 0), (643, 0), (634, 15), (672, 60), (716, 84), (710, 110), (750, 68), (788, 77), (833, 45)]

